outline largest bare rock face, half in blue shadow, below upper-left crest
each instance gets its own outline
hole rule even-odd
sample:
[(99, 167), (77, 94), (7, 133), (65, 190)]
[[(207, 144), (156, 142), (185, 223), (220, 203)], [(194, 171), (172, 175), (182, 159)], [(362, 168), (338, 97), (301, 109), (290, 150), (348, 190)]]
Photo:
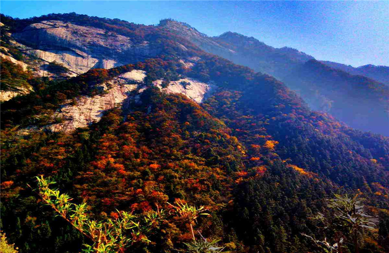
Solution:
[(61, 63), (72, 75), (142, 61), (160, 52), (147, 41), (133, 43), (126, 36), (58, 20), (31, 24), (12, 36), (27, 46), (25, 53)]

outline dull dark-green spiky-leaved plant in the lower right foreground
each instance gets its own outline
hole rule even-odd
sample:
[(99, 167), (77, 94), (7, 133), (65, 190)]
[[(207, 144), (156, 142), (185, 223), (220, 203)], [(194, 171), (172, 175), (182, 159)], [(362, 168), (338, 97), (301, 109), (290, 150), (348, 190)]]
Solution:
[(324, 241), (302, 234), (311, 239), (318, 248), (324, 250), (326, 253), (342, 253), (343, 242), (353, 241), (354, 252), (359, 253), (359, 237), (363, 235), (366, 230), (375, 228), (378, 220), (376, 217), (369, 216), (365, 213), (362, 201), (358, 199), (358, 194), (353, 198), (347, 195), (341, 196), (335, 194), (334, 199), (329, 200), (329, 215), (325, 216), (318, 213), (311, 217), (317, 222), (318, 228), (323, 232), (334, 235), (336, 243), (330, 243), (327, 238)]

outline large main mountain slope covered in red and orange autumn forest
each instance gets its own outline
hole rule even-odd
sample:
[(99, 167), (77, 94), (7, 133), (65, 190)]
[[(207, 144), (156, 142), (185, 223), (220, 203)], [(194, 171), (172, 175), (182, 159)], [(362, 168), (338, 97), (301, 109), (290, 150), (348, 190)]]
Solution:
[[(96, 219), (168, 209), (175, 199), (205, 205), (211, 215), (196, 230), (242, 253), (313, 252), (301, 233), (326, 235), (308, 217), (334, 193), (363, 194), (384, 228), (364, 235), (364, 247), (388, 249), (388, 137), (312, 111), (275, 78), (160, 27), (65, 14), (14, 29), (45, 18), (147, 37), (161, 52), (62, 80), (33, 77), (33, 92), (2, 103), (1, 224), (20, 252), (79, 252), (88, 243), (26, 187), (39, 174), (87, 202)], [(150, 243), (123, 252), (172, 252), (191, 236), (188, 224), (166, 221)]]

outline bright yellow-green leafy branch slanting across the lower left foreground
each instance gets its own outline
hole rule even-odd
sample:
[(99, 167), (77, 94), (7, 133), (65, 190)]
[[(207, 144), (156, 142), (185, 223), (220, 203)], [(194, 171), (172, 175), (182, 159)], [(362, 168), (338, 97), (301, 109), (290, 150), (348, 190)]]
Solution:
[(75, 229), (88, 237), (93, 244), (85, 245), (83, 252), (114, 253), (124, 252), (136, 242), (150, 242), (147, 234), (158, 227), (166, 217), (164, 210), (150, 211), (146, 214), (134, 215), (118, 211), (118, 217), (96, 221), (89, 217), (86, 203), (74, 204), (67, 194), (60, 194), (58, 189), (51, 189), (55, 182), (43, 176), (36, 177), (38, 195), (50, 205), (58, 216), (67, 220)]

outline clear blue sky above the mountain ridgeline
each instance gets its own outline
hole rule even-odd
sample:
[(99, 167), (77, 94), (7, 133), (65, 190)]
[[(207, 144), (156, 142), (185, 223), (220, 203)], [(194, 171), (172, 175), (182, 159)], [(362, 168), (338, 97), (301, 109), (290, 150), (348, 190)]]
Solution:
[(319, 60), (389, 66), (389, 1), (1, 0), (0, 12), (14, 18), (76, 12), (142, 24), (174, 18), (209, 36), (232, 31)]

